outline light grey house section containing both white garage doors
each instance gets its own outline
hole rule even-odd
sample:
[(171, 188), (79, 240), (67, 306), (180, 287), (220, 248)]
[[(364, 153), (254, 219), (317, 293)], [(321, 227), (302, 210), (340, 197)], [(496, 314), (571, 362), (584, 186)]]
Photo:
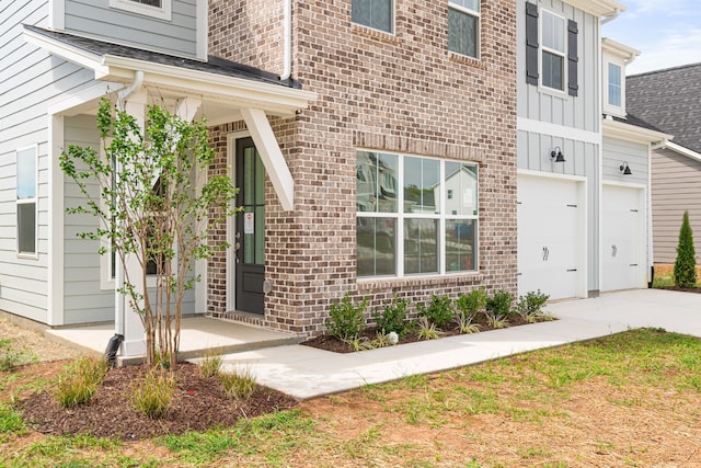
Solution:
[(636, 52), (602, 41), (601, 25), (624, 10), (518, 2), (519, 294), (588, 297), (650, 281), (650, 148), (666, 135), (632, 125), (611, 99)]

